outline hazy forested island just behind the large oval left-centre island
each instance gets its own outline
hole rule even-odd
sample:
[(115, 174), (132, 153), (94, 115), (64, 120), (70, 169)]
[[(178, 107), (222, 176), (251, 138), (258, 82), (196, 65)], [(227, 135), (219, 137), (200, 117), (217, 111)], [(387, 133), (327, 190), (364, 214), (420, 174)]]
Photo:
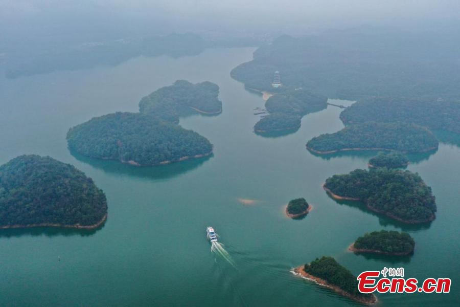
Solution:
[(193, 84), (177, 80), (173, 85), (162, 87), (142, 98), (139, 109), (141, 113), (178, 123), (179, 116), (221, 113), (222, 102), (218, 96), (219, 86), (215, 83), (205, 81)]

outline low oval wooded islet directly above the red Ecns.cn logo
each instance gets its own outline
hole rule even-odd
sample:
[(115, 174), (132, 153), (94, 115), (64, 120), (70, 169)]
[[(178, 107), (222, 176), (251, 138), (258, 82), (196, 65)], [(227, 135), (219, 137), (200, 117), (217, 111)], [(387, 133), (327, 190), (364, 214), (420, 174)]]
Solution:
[(349, 250), (355, 253), (405, 256), (413, 253), (415, 242), (407, 232), (373, 231), (356, 239)]

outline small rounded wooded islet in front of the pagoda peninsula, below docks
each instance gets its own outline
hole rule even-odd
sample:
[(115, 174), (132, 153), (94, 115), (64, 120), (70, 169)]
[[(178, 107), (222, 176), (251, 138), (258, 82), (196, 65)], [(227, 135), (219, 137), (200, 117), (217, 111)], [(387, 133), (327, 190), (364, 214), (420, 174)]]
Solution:
[(298, 115), (271, 113), (256, 123), (254, 131), (263, 134), (274, 131), (297, 130), (300, 126), (301, 117)]

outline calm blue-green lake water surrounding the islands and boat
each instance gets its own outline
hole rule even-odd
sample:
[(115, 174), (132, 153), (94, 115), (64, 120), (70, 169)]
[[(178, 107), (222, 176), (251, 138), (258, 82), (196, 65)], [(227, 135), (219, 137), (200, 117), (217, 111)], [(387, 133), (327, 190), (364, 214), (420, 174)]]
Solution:
[[(321, 184), (334, 173), (365, 168), (373, 153), (328, 159), (305, 143), (343, 125), (341, 109), (305, 116), (296, 133), (252, 133), (260, 96), (229, 72), (254, 49), (212, 49), (193, 57), (139, 57), (117, 67), (0, 81), (0, 163), (24, 153), (72, 163), (94, 179), (108, 201), (108, 220), (95, 232), (33, 229), (0, 232), (0, 305), (322, 305), (355, 304), (293, 276), (292, 267), (334, 256), (355, 275), (404, 267), (406, 277), (450, 277), (450, 294), (380, 294), (382, 305), (444, 306), (460, 301), (460, 149), (441, 144), (433, 155), (412, 156), (408, 169), (432, 187), (436, 220), (404, 226), (360, 206), (330, 199)], [(214, 156), (161, 167), (136, 168), (72, 156), (69, 127), (115, 111), (137, 111), (139, 100), (177, 79), (220, 86), (223, 113), (180, 120), (214, 144)], [(347, 101), (336, 101), (349, 104)], [(290, 220), (283, 206), (304, 197), (314, 209)], [(256, 200), (243, 205), (238, 199)], [(213, 226), (235, 262), (212, 253)], [(347, 252), (354, 239), (380, 229), (415, 238), (412, 257)], [(58, 260), (60, 258), (60, 261)]]

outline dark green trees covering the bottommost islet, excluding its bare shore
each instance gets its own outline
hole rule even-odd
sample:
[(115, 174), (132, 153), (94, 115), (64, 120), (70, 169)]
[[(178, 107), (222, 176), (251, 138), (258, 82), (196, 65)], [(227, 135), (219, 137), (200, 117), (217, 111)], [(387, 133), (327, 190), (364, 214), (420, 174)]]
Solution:
[(306, 264), (304, 271), (315, 277), (326, 280), (330, 284), (354, 297), (371, 299), (371, 294), (363, 294), (358, 290), (358, 281), (349, 270), (341, 266), (333, 257), (323, 256)]

